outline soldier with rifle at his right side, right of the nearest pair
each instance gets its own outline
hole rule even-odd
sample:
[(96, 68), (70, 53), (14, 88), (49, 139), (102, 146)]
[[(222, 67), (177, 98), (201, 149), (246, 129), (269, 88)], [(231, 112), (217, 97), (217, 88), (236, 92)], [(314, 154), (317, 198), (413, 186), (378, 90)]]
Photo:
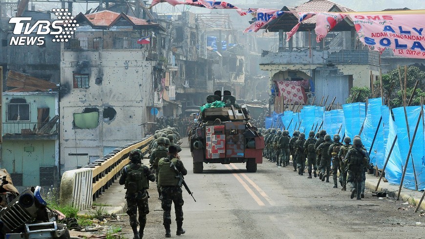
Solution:
[(175, 210), (175, 220), (177, 223), (177, 232), (176, 235), (180, 236), (185, 234), (185, 230), (182, 228), (183, 225), (183, 209), (184, 204), (182, 197), (182, 188), (179, 186), (179, 179), (176, 178), (176, 173), (170, 168), (170, 163), (173, 163), (177, 170), (183, 174), (188, 174), (188, 171), (185, 169), (183, 162), (179, 159), (177, 155), (177, 148), (175, 146), (170, 146), (168, 148), (169, 156), (166, 158), (161, 158), (158, 162), (158, 184), (161, 186), (161, 195), (162, 203), (161, 207), (164, 209), (164, 228), (165, 228), (165, 237), (171, 237), (170, 224), (171, 224), (171, 204), (174, 203)]

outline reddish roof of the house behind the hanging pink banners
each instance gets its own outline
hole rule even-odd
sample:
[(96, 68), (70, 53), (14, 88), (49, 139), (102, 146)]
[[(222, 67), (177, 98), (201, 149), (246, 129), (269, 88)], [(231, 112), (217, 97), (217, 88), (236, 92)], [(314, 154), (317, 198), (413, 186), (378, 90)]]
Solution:
[[(354, 12), (354, 10), (348, 7), (344, 7), (329, 0), (309, 0), (308, 2), (304, 2), (301, 5), (297, 6), (295, 9), (297, 12), (330, 12), (334, 7), (339, 8), (340, 11), (338, 12)], [(307, 19), (302, 23), (316, 23), (316, 16)]]

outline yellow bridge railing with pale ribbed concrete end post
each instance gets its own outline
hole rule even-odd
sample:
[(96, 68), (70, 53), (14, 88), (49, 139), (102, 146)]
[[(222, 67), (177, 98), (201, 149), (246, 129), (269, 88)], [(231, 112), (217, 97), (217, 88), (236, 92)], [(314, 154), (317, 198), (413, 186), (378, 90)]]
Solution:
[(80, 210), (91, 207), (92, 202), (120, 176), (121, 169), (129, 163), (130, 151), (140, 149), (144, 156), (152, 140), (153, 136), (145, 137), (116, 148), (84, 168), (64, 172), (60, 203), (70, 204)]

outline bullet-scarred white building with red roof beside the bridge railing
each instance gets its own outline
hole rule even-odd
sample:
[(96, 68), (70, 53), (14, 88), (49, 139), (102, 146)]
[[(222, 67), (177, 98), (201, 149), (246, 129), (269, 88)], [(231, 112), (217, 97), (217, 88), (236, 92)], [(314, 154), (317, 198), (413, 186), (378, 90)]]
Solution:
[(108, 10), (80, 13), (75, 20), (80, 26), (61, 50), (65, 171), (144, 136), (139, 125), (162, 106), (156, 88), (165, 61), (165, 29), (158, 23)]

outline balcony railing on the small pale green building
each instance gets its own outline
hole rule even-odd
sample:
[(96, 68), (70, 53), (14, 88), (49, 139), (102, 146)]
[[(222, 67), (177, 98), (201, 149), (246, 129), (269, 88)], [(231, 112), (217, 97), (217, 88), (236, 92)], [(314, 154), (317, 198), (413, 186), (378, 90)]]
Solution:
[(49, 137), (56, 138), (58, 135), (59, 123), (40, 122), (13, 122), (3, 123), (3, 137)]

